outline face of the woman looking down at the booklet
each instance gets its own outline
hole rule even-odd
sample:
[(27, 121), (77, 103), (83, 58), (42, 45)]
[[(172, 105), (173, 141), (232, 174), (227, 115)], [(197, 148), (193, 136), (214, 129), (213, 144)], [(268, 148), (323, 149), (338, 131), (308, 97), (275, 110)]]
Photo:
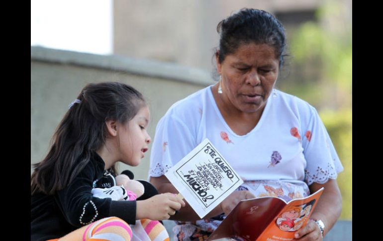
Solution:
[[(267, 44), (243, 44), (218, 62), (222, 97), (242, 112), (263, 110), (279, 72), (279, 59)], [(228, 101), (227, 101), (228, 100)]]

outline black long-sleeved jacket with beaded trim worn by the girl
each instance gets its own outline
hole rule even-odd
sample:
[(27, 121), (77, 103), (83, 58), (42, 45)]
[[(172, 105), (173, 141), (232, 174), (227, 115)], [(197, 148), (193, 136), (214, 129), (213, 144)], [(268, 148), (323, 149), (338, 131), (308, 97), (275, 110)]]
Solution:
[(36, 193), (31, 196), (31, 241), (58, 239), (111, 216), (135, 224), (136, 201), (93, 197), (91, 191), (94, 187), (105, 187), (104, 167), (104, 161), (95, 153), (68, 187), (54, 195)]

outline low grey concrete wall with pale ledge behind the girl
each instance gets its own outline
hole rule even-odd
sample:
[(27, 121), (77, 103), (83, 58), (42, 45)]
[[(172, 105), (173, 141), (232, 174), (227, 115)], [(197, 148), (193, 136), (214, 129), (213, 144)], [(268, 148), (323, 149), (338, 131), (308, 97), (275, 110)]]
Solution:
[[(68, 104), (87, 83), (98, 81), (121, 81), (143, 93), (151, 109), (152, 138), (173, 103), (214, 83), (204, 71), (169, 63), (31, 47), (31, 164), (47, 154)], [(146, 179), (149, 156), (137, 167), (120, 163), (119, 169), (129, 168), (135, 178)]]

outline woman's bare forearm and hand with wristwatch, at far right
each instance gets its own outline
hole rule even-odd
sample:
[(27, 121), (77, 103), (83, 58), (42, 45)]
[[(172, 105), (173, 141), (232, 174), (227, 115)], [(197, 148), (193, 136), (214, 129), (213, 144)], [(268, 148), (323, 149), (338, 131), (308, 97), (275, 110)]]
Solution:
[[(324, 184), (314, 182), (309, 186), (311, 193), (316, 192), (322, 187), (324, 187), (323, 193), (320, 196), (310, 219), (320, 219), (323, 221), (325, 225), (323, 236), (325, 236), (340, 216), (342, 211), (342, 196), (335, 179), (329, 179)], [(297, 239), (299, 237), (301, 237), (298, 239), (299, 241), (322, 240), (320, 238), (319, 227), (312, 220), (309, 220), (304, 228), (295, 233), (295, 238)]]

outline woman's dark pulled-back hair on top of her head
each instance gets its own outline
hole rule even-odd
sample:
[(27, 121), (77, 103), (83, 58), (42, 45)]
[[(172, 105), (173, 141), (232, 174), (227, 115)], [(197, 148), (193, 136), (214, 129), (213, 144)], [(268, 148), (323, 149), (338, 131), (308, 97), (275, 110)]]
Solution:
[(236, 52), (243, 44), (268, 44), (275, 49), (275, 54), (283, 66), (286, 51), (285, 28), (271, 13), (253, 8), (242, 8), (239, 12), (220, 21), (217, 25), (220, 34), (219, 63), (227, 55)]

